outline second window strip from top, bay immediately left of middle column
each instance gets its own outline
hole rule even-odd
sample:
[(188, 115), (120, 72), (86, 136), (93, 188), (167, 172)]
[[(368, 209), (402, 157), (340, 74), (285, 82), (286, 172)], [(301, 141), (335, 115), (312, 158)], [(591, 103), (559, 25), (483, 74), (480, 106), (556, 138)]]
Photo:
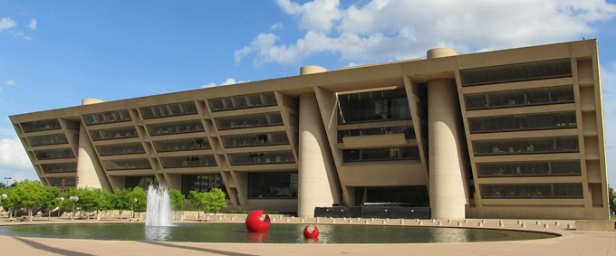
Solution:
[(283, 125), (280, 112), (259, 113), (253, 115), (217, 118), (218, 129), (256, 128)]

